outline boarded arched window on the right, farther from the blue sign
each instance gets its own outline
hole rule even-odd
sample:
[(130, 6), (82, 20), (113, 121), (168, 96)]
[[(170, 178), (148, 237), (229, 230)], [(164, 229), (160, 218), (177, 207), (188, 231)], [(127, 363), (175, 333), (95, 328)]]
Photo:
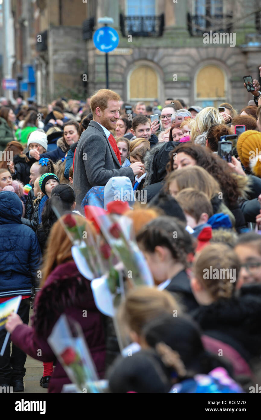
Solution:
[(209, 65), (196, 75), (196, 102), (202, 106), (217, 106), (226, 99), (225, 76), (221, 68)]

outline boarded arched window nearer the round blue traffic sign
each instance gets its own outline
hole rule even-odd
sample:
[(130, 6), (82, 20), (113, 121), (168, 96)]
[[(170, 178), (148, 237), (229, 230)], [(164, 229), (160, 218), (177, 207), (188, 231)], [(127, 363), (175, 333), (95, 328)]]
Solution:
[(139, 66), (130, 74), (128, 96), (130, 101), (151, 102), (159, 97), (159, 78), (150, 66)]

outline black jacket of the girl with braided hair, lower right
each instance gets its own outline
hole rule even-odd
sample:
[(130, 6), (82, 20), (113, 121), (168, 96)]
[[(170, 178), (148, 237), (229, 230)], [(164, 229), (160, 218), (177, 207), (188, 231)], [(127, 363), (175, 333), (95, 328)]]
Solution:
[(243, 286), (231, 299), (200, 306), (192, 314), (204, 334), (231, 345), (249, 363), (261, 355), (261, 284)]

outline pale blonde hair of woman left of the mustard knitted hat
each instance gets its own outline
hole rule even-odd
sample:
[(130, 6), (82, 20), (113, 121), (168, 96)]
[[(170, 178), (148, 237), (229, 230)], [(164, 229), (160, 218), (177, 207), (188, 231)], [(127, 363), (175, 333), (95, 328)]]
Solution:
[(214, 124), (224, 124), (222, 115), (214, 107), (203, 108), (191, 121), (191, 140), (194, 143), (205, 145), (206, 134)]

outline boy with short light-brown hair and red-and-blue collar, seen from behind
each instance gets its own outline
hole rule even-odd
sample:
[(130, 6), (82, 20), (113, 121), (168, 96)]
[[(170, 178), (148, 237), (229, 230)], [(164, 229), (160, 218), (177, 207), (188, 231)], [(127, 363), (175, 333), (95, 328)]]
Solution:
[(175, 197), (183, 209), (187, 226), (194, 230), (193, 236), (198, 239), (196, 252), (200, 251), (212, 237), (212, 228), (208, 222), (213, 215), (213, 207), (210, 199), (204, 192), (193, 188), (181, 190)]

